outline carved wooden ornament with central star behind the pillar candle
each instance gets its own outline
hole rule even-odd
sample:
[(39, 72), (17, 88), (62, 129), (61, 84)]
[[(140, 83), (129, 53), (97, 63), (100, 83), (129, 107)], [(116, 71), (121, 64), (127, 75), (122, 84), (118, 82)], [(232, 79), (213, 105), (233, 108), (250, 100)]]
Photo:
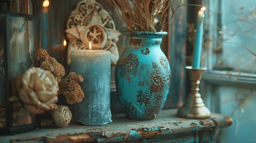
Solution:
[(69, 39), (68, 64), (71, 63), (71, 51), (91, 48), (111, 52), (111, 65), (116, 65), (119, 58), (116, 42), (121, 34), (110, 14), (95, 0), (83, 0), (71, 12), (67, 22), (66, 37)]

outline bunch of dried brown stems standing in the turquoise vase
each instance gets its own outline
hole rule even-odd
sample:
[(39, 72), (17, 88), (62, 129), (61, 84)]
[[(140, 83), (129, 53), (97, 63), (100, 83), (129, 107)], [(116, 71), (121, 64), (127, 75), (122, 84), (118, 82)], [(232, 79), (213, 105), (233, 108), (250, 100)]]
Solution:
[(181, 6), (180, 1), (174, 8), (172, 0), (107, 1), (117, 10), (128, 31), (161, 31)]

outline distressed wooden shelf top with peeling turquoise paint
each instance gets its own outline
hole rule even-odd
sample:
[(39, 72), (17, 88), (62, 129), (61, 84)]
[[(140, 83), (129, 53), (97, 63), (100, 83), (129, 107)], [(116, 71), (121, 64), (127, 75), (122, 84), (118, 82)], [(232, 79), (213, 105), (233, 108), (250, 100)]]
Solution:
[(71, 123), (67, 127), (55, 127), (50, 121), (43, 120), (39, 129), (0, 136), (0, 142), (200, 142), (209, 136), (204, 141), (211, 143), (215, 129), (232, 124), (230, 117), (221, 114), (212, 113), (210, 118), (197, 120), (181, 118), (176, 113), (176, 109), (162, 110), (151, 121), (129, 120), (124, 114), (118, 114), (112, 117), (112, 123), (103, 126)]

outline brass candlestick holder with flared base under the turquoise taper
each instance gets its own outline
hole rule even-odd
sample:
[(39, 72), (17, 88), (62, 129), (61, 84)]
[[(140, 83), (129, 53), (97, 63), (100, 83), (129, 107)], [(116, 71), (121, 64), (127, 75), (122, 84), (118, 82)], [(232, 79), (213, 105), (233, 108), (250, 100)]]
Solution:
[(208, 118), (210, 111), (204, 105), (201, 94), (199, 94), (201, 76), (206, 68), (193, 69), (191, 66), (187, 66), (186, 69), (191, 80), (191, 91), (183, 106), (178, 109), (178, 116), (196, 119)]

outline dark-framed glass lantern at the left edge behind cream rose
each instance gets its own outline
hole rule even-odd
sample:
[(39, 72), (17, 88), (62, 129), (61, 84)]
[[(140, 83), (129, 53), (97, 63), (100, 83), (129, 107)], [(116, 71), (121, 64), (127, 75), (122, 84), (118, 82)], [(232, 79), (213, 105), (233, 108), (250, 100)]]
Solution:
[(38, 67), (39, 18), (0, 11), (0, 134), (16, 134), (39, 127), (39, 118), (19, 99), (16, 78)]

